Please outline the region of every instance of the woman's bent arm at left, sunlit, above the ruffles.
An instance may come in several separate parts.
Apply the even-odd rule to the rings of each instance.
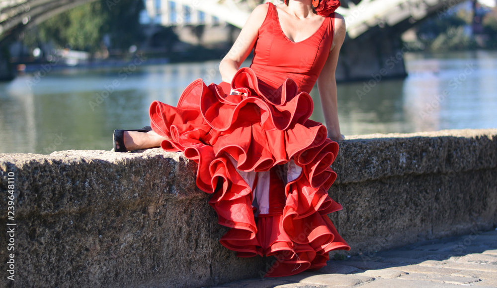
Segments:
[[[235,41],[228,54],[219,63],[219,71],[224,82],[231,83],[240,65],[252,51],[259,35],[259,28],[266,18],[267,8],[267,4],[262,4],[253,9],[240,35],[238,35],[237,41]]]

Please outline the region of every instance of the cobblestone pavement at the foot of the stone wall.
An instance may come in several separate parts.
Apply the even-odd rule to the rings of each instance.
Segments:
[[[331,260],[316,272],[218,288],[497,288],[497,229]]]

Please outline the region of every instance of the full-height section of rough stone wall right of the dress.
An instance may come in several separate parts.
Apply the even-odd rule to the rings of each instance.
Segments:
[[[340,143],[329,192],[343,210],[330,218],[350,254],[371,258],[398,243],[495,227],[496,133],[374,134]]]

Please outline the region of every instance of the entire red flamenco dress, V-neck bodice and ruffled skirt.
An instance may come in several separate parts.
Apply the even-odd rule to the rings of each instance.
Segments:
[[[350,247],[327,216],[341,209],[327,192],[338,144],[308,119],[308,93],[330,53],[334,14],[295,43],[267,5],[252,64],[231,87],[198,79],[177,107],[153,102],[150,117],[154,131],[171,139],[164,150],[198,164],[197,186],[213,194],[219,224],[231,228],[221,244],[239,257],[276,256],[266,276],[277,277],[319,269],[328,252]]]

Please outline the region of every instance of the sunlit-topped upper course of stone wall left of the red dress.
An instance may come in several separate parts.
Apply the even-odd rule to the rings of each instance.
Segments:
[[[109,201],[130,204],[153,197],[207,198],[195,185],[196,164],[180,153],[162,149],[134,153],[68,150],[0,157],[0,173],[16,173],[16,188],[22,191],[17,204],[29,214],[99,209]]]

